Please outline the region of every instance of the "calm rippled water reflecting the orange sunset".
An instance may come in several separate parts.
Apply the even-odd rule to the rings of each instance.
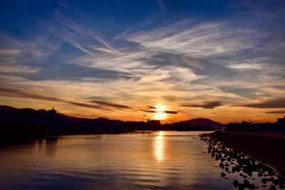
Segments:
[[[68,135],[0,147],[0,189],[234,189],[197,134]]]

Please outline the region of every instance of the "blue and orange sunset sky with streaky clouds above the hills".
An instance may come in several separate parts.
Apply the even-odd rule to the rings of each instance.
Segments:
[[[1,1],[0,105],[275,122],[285,1]]]

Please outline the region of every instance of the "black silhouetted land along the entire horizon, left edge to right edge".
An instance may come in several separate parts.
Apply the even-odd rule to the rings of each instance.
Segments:
[[[207,118],[197,118],[160,124],[159,121],[134,122],[109,120],[104,117],[95,119],[73,117],[58,113],[56,110],[18,109],[0,105],[0,144],[5,139],[21,137],[46,137],[58,134],[103,134],[143,130],[202,131],[227,127],[226,131],[235,132],[279,132],[285,134],[285,117],[271,123],[229,123],[222,125]]]

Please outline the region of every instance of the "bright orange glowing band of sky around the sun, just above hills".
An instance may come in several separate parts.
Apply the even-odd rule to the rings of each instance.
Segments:
[[[76,92],[81,92],[80,90]],[[63,93],[64,94],[64,93]],[[67,97],[67,95],[66,95]],[[75,101],[73,99],[66,99],[66,101]],[[125,102],[117,102],[119,104],[124,104]],[[52,102],[35,100],[26,97],[4,97],[0,95],[0,105],[9,105],[16,108],[32,108],[34,110],[50,110],[54,107],[58,112],[68,116],[74,117],[86,117],[86,118],[97,118],[105,117],[110,120],[123,120],[123,121],[147,121],[147,119],[160,120],[161,123],[172,123],[180,122],[184,120],[195,119],[199,117],[208,118],[223,124],[229,122],[242,122],[242,120],[252,122],[276,122],[276,118],[284,117],[284,113],[281,112],[283,109],[260,109],[252,107],[231,107],[228,105],[223,105],[220,107],[215,107],[212,110],[203,109],[199,107],[180,107],[178,102],[171,101],[157,101],[157,98],[153,103],[147,101],[140,101],[136,104],[135,101],[130,101],[128,105],[135,105],[138,110],[135,109],[115,109],[110,107],[110,110],[97,110],[91,107],[82,107],[78,105],[71,105],[65,102]],[[145,112],[147,110],[147,105],[150,105],[153,112]],[[140,110],[142,109],[142,110]],[[177,110],[177,114],[167,114],[165,111]],[[280,113],[268,114],[267,112],[273,112],[279,110]],[[148,110],[147,110],[148,111]]]

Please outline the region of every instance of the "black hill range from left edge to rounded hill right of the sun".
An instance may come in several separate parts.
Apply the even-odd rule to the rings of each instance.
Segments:
[[[9,134],[89,134],[125,132],[133,130],[213,130],[223,127],[219,122],[198,118],[172,124],[160,122],[124,122],[98,117],[95,119],[73,117],[56,110],[18,109],[0,105],[0,136]]]

